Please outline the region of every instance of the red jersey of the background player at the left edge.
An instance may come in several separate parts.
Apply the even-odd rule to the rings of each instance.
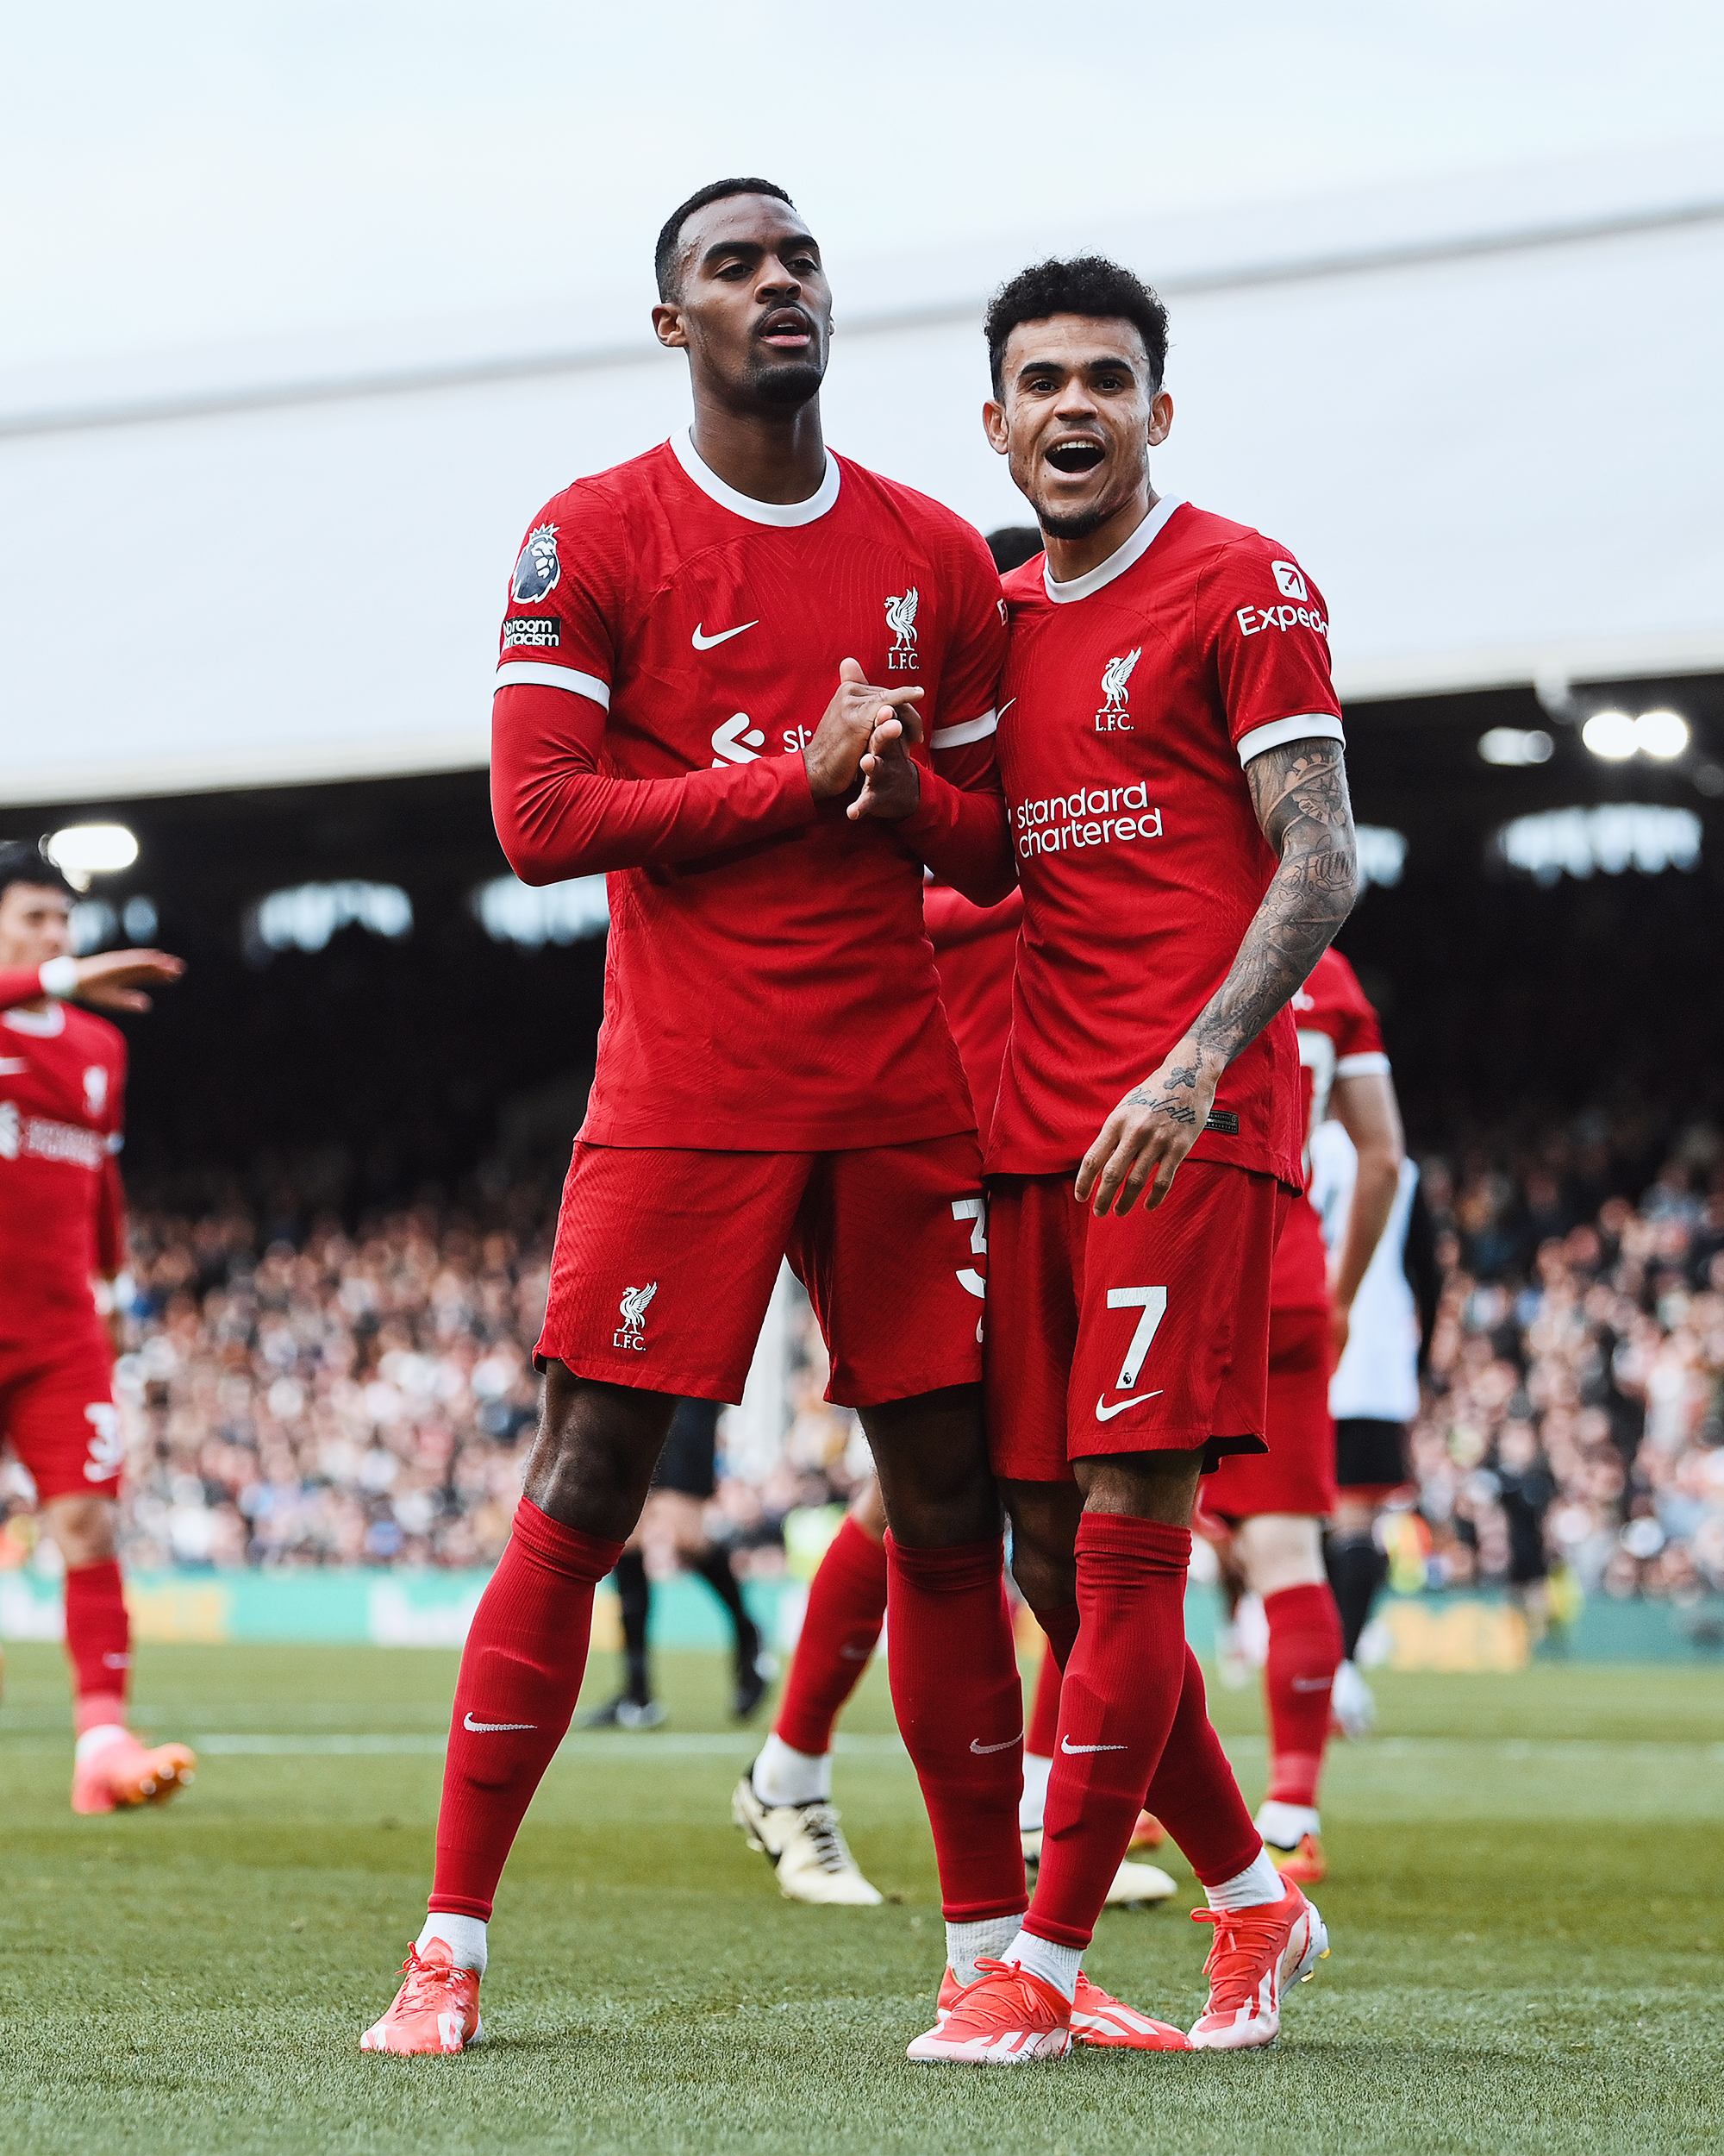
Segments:
[[[34,968],[0,972],[0,1343],[95,1326],[91,1283],[119,1272],[125,1210],[114,1153],[125,1035],[41,996]]]

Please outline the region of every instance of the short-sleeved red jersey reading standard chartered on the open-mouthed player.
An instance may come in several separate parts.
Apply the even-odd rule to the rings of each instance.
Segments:
[[[987,1166],[1075,1166],[1222,985],[1276,856],[1243,765],[1340,740],[1327,610],[1261,533],[1162,500],[1069,584],[1006,578],[1000,776],[1024,886]],[[1299,1179],[1293,1020],[1243,1048],[1198,1160]]]

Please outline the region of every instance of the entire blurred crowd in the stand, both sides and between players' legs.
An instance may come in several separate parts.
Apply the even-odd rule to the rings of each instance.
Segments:
[[[1444,1291],[1416,1503],[1386,1524],[1401,1587],[1724,1591],[1724,1149],[1690,1134],[1638,1203],[1599,1194],[1605,1171],[1567,1138],[1424,1164]],[[125,1559],[496,1559],[534,1432],[552,1229],[528,1190],[267,1238],[237,1203],[138,1212]],[[866,1473],[825,1376],[797,1291],[782,1404],[720,1423],[711,1529],[739,1572],[784,1567],[787,1520],[795,1565],[797,1520]],[[15,1466],[0,1509],[0,1565],[24,1563]]]

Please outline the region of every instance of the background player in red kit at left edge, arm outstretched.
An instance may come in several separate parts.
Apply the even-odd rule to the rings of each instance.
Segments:
[[[147,1011],[177,981],[162,951],[71,955],[71,888],[28,841],[0,847],[0,1440],[37,1485],[67,1567],[73,1811],[162,1802],[183,1744],[127,1729],[131,1626],[114,1516],[123,1442],[97,1281],[125,1268],[125,1035],[67,996]]]

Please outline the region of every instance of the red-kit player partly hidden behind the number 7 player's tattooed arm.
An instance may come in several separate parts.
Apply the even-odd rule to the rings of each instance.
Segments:
[[[1246,1587],[1263,1598],[1269,1658],[1269,1794],[1256,1826],[1282,1878],[1323,1878],[1317,1787],[1330,1740],[1340,1613],[1323,1567],[1323,1522],[1336,1509],[1330,1373],[1347,1311],[1401,1177],[1401,1119],[1377,1013],[1353,968],[1325,951],[1293,996],[1304,1087],[1304,1169],[1310,1134],[1336,1117],[1360,1156],[1360,1181],[1336,1253],[1334,1296],[1317,1210],[1302,1192],[1287,1214],[1269,1276],[1267,1453],[1231,1453],[1202,1485],[1205,1522],[1231,1537]],[[1338,1339],[1336,1339],[1338,1335]],[[1205,1531],[1207,1524],[1205,1524]]]

